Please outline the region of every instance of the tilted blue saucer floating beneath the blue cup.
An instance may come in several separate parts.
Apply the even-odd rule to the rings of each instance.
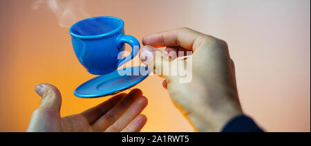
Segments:
[[[142,82],[148,77],[149,73],[150,71],[146,66],[119,69],[84,82],[75,89],[74,94],[79,98],[98,98],[113,95]]]

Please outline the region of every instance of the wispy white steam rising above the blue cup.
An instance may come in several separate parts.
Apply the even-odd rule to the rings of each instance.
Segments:
[[[37,0],[32,3],[32,9],[38,10],[41,5],[46,4],[56,15],[58,25],[69,28],[75,22],[89,17],[84,8],[84,2],[84,0]]]

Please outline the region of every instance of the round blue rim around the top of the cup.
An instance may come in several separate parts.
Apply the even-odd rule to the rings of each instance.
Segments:
[[[77,34],[73,33],[72,29],[73,29],[73,27],[75,27],[77,25],[77,23],[79,23],[81,21],[86,21],[86,20],[89,20],[89,19],[98,19],[98,18],[116,19],[117,21],[120,21],[121,25],[118,26],[117,28],[115,28],[114,30],[109,31],[108,33],[103,33],[103,34],[100,34],[100,35],[77,35]],[[87,19],[82,19],[81,21],[77,21],[75,24],[73,24],[73,26],[70,27],[69,33],[70,33],[71,36],[79,37],[81,39],[95,39],[95,38],[99,38],[99,37],[107,37],[109,35],[113,35],[113,34],[119,32],[124,27],[124,22],[123,22],[122,19],[117,18],[117,17],[111,17],[111,16],[91,17],[91,18],[87,18]]]

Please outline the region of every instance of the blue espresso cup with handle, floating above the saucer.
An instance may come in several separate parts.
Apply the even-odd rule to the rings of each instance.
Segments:
[[[117,17],[93,17],[70,27],[73,49],[88,73],[104,75],[129,62],[138,54],[140,42],[124,35],[124,22]],[[131,55],[122,58],[124,47],[131,45]]]

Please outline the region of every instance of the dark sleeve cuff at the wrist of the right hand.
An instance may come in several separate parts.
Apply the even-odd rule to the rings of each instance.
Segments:
[[[236,116],[227,122],[222,132],[263,132],[252,118],[245,115]]]

